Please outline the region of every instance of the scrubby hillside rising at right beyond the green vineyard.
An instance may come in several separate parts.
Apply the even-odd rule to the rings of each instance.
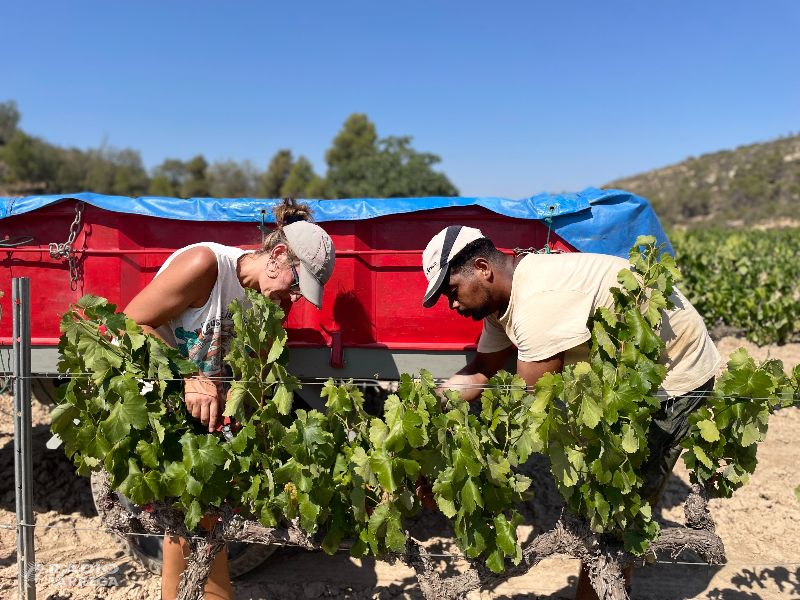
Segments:
[[[650,200],[665,225],[800,219],[800,135],[689,158],[612,181]]]

